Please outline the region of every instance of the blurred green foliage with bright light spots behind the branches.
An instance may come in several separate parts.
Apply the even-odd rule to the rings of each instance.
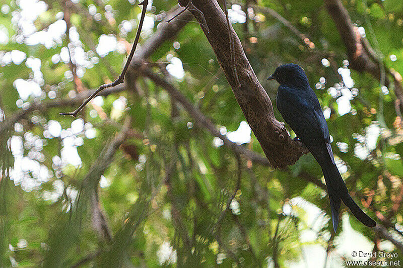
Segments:
[[[67,2],[67,8],[64,3],[0,1],[0,97],[1,115],[4,112],[6,117],[1,124],[29,104],[73,98],[77,85],[81,84],[81,90],[95,88],[120,72],[126,46],[137,30],[141,12],[137,3],[77,0]],[[367,9],[361,0],[343,3],[353,22],[366,30],[370,43],[378,40],[379,47],[372,45],[384,55],[385,65],[403,73],[402,2],[368,1]],[[232,6],[231,18],[241,18],[233,27],[272,101],[278,85],[265,78],[276,66],[294,62],[304,67],[328,115],[333,152],[348,188],[361,205],[370,204],[366,211],[371,217],[383,215],[382,224],[402,241],[403,131],[393,88],[380,94],[378,81],[354,71],[354,86],[344,86],[338,70],[348,69],[345,47],[322,1],[261,0],[258,7],[247,10],[241,4]],[[35,8],[24,10],[24,5]],[[158,24],[165,23],[165,15],[175,6],[174,0],[150,4],[145,23],[150,27],[143,30],[141,44],[157,31]],[[309,36],[315,48],[307,48],[264,7]],[[240,9],[246,13],[246,25],[241,23],[245,13]],[[60,31],[62,27],[55,23],[67,17],[73,30],[62,32],[50,45],[43,41],[46,34],[36,36],[38,44],[29,43],[36,32]],[[367,19],[375,36],[368,31]],[[116,41],[104,57],[94,47],[104,40],[102,36]],[[81,59],[87,61],[77,60],[77,80],[66,48],[70,54],[82,53]],[[25,53],[22,62],[15,51]],[[237,130],[244,116],[197,23],[189,22],[149,61],[174,65],[173,57],[181,60],[184,76],[170,76],[170,81],[223,133]],[[28,63],[33,59],[40,60],[39,69]],[[152,68],[166,74],[165,66]],[[19,78],[37,83],[37,96],[23,100],[16,90]],[[21,91],[30,86],[23,84]],[[163,88],[143,77],[136,81],[136,88],[140,94],[127,90],[89,104],[79,121],[58,115],[75,107],[56,106],[30,111],[10,131],[2,132],[0,266],[316,267],[317,260],[307,256],[321,255],[324,260],[327,250],[326,265],[339,267],[345,258],[351,259],[346,248],[352,244],[358,250],[369,247],[368,252],[375,245],[375,250],[398,253],[396,260],[403,261],[402,252],[352,217],[342,217],[338,233],[331,235],[328,198],[308,182],[323,182],[311,155],[301,157],[288,170],[273,170],[241,157],[240,168],[234,152],[215,146],[214,137],[199,128]],[[342,109],[348,109],[347,113],[340,115]],[[276,109],[275,114],[281,120]],[[105,159],[127,116],[132,119],[130,129],[144,137],[129,136],[114,156]],[[54,136],[53,121],[61,127]],[[72,123],[81,122],[84,127],[75,133]],[[13,148],[10,137],[17,144],[15,159],[22,159],[21,172],[7,171],[14,161],[6,150],[7,144]],[[262,153],[253,134],[251,142],[241,146]],[[69,161],[76,149],[81,163],[75,165]],[[240,188],[226,211],[237,180]],[[94,227],[91,202],[95,197],[111,238]],[[343,213],[348,215],[346,210]]]

